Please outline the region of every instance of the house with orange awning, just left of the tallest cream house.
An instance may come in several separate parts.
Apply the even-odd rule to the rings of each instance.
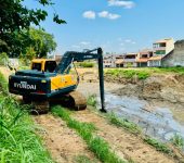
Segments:
[[[152,49],[143,49],[137,53],[137,67],[146,67],[148,59],[153,57],[153,50]]]

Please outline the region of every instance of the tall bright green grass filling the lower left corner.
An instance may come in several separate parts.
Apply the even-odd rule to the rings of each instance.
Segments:
[[[52,163],[27,105],[19,105],[6,93],[2,74],[0,82],[0,163]]]

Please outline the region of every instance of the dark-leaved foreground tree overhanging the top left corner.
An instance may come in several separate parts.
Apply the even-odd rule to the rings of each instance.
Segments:
[[[27,9],[23,5],[23,1],[25,0],[0,0],[0,52],[8,52],[10,57],[21,54],[22,42],[18,37],[24,37],[30,24],[39,25],[48,16],[45,10]],[[53,5],[52,0],[37,1],[43,7]],[[56,13],[53,14],[53,22],[66,23]]]

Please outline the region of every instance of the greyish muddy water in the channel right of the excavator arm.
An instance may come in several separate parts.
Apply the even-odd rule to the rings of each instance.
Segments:
[[[106,93],[105,99],[108,112],[113,111],[118,116],[136,123],[146,135],[162,141],[169,141],[174,134],[184,137],[184,121],[175,118],[170,106],[113,93]]]

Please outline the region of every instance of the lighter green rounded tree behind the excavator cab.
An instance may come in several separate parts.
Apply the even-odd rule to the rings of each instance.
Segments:
[[[53,35],[45,33],[41,28],[31,27],[28,32],[23,30],[17,35],[17,39],[19,40],[19,46],[14,50],[18,51],[21,53],[19,58],[25,60],[43,58],[56,48]]]

